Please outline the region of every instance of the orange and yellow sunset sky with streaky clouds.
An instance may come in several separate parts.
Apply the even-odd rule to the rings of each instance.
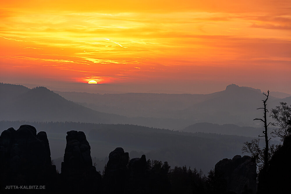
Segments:
[[[291,93],[290,0],[9,0],[0,21],[4,83]]]

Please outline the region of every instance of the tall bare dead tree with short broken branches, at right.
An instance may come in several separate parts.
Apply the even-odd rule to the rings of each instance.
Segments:
[[[264,107],[263,108],[257,108],[257,110],[258,109],[264,109],[264,116],[263,116],[263,119],[254,119],[254,120],[260,120],[260,121],[262,121],[263,123],[264,123],[264,127],[265,127],[265,131],[263,131],[263,136],[260,136],[259,135],[259,137],[265,137],[265,143],[266,143],[266,145],[265,145],[265,153],[264,153],[264,166],[265,167],[267,167],[268,166],[268,160],[269,160],[269,156],[268,156],[268,154],[269,154],[269,140],[271,139],[271,138],[269,138],[268,139],[268,126],[269,126],[269,124],[271,123],[271,122],[269,122],[269,124],[267,124],[267,112],[269,112],[268,111],[268,109],[266,108],[266,106],[267,106],[267,100],[268,100],[268,98],[269,98],[269,90],[268,90],[268,95],[266,95],[265,93],[263,93],[267,98],[265,99],[265,100],[262,100],[263,101],[263,104],[264,104]]]

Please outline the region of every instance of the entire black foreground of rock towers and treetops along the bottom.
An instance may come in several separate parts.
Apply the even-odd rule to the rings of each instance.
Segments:
[[[219,161],[213,177],[206,178],[201,170],[198,173],[196,169],[187,170],[186,166],[176,166],[171,170],[166,161],[147,161],[145,155],[129,161],[128,152],[117,147],[109,154],[102,178],[92,165],[91,147],[84,132],[68,131],[66,141],[61,174],[57,174],[44,131],[37,134],[31,125],[3,131],[0,136],[0,193],[210,194],[220,191],[215,187],[224,182],[229,193],[256,191],[256,164],[249,156],[237,155]],[[290,178],[284,180],[284,177],[290,175],[290,150],[291,141],[286,139],[267,170],[267,176],[272,178],[262,181],[262,185],[287,187]],[[284,177],[278,179],[278,172],[284,172]],[[46,189],[7,191],[5,186],[9,185],[38,185]],[[225,190],[221,191],[225,193]]]

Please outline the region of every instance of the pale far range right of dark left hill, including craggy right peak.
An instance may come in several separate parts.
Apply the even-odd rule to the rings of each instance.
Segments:
[[[226,90],[212,94],[89,94],[85,92],[57,92],[66,99],[96,111],[117,113],[128,117],[175,119],[176,123],[211,122],[232,123],[239,126],[257,126],[253,118],[260,115],[256,108],[264,98],[261,90],[230,84]],[[272,96],[272,91],[270,92]],[[281,99],[270,97],[270,108]],[[283,99],[282,99],[283,100]],[[272,103],[273,102],[273,103]],[[165,121],[156,127],[166,127]],[[168,120],[167,120],[168,122]],[[181,124],[175,124],[182,129]],[[185,125],[184,125],[185,126]],[[186,127],[186,126],[185,126]]]

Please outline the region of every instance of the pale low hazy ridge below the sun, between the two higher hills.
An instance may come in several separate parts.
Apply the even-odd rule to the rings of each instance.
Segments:
[[[86,92],[59,92],[59,95],[94,110],[128,117],[166,118],[169,111],[183,110],[202,102],[211,95],[192,94],[90,94]]]

